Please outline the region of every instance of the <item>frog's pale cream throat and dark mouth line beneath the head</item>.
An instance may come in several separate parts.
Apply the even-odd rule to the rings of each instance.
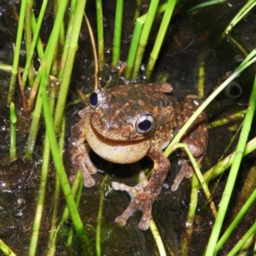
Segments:
[[[102,137],[91,125],[90,120],[85,120],[86,141],[90,148],[103,159],[117,164],[130,164],[141,160],[150,147],[150,140],[144,138],[137,141],[113,141]]]

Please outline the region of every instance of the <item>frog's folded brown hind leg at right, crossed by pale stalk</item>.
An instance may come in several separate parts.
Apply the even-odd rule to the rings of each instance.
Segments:
[[[183,101],[183,108],[181,109],[180,119],[178,120],[179,127],[181,127],[189,117],[200,106],[199,98],[194,95],[186,96]],[[189,127],[189,130],[182,138],[182,143],[186,143],[190,152],[195,157],[197,164],[201,162],[203,155],[207,150],[207,115],[202,112],[195,122]],[[182,166],[175,177],[172,184],[172,191],[177,190],[179,184],[183,180],[183,177],[191,177],[193,174],[193,167],[186,154],[183,154],[180,162]]]

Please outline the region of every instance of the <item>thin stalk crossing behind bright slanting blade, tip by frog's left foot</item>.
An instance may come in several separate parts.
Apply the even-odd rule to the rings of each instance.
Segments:
[[[72,195],[73,195],[73,197],[77,194],[80,183],[83,183],[82,182],[82,174],[81,174],[81,172],[77,172],[76,177],[73,181],[73,186],[72,186]],[[57,229],[55,230],[55,232],[52,236],[52,239],[49,241],[49,251],[47,253],[47,256],[54,256],[55,255],[55,242],[56,242],[57,234],[58,234],[59,230],[61,230],[61,226],[67,221],[68,216],[69,216],[68,208],[65,207],[65,209],[62,213],[62,216],[61,216],[60,223],[59,223]]]

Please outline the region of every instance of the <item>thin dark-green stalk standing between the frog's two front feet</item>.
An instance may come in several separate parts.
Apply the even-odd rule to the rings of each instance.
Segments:
[[[97,225],[96,225],[96,255],[101,256],[101,229],[102,229],[102,213],[103,213],[103,202],[105,199],[104,187],[108,181],[108,175],[102,179],[101,183],[101,195],[100,195],[100,204],[97,215]]]

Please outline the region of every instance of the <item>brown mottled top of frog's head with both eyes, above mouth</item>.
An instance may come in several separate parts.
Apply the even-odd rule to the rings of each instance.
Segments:
[[[90,94],[90,124],[102,137],[113,141],[143,140],[154,134],[154,108],[134,86],[98,89]]]

